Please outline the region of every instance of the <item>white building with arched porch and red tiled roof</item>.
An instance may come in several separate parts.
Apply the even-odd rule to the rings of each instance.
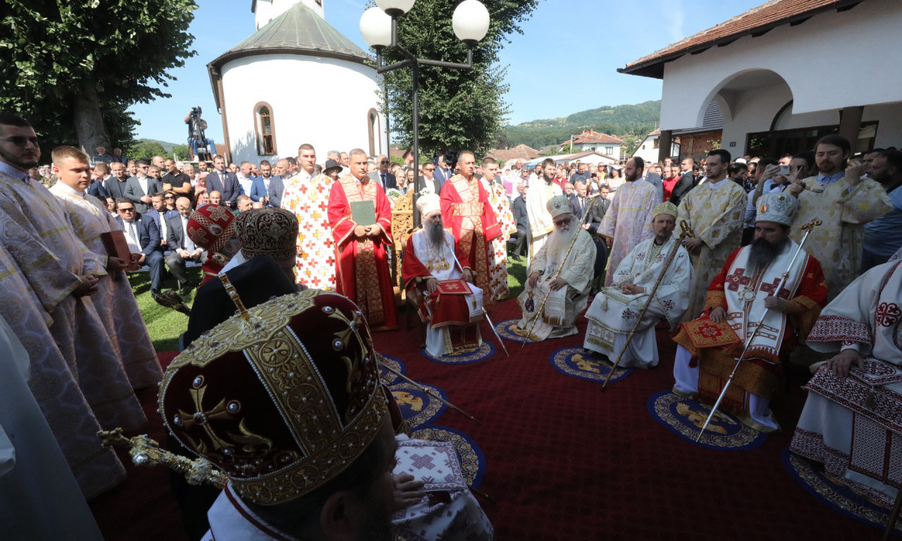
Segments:
[[[896,0],[771,0],[618,71],[663,79],[661,152],[712,101],[733,156],[811,150],[826,133],[856,151],[898,147],[899,28]]]

